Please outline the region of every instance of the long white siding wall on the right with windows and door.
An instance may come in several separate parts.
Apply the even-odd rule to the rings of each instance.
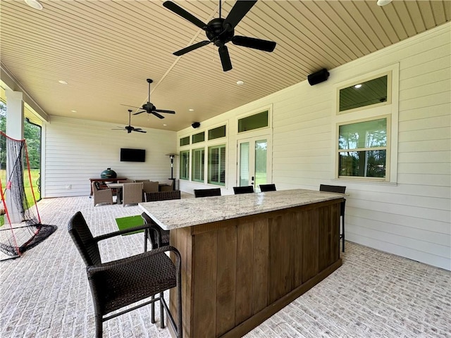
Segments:
[[[450,27],[442,25],[330,70],[327,82],[313,87],[300,82],[202,122],[202,129],[195,132],[228,123],[223,193],[232,193],[236,184],[237,115],[272,106],[272,182],[278,189],[346,185],[348,240],[451,270]],[[397,182],[334,180],[336,87],[395,64],[399,66],[395,95],[399,100],[394,103],[399,111],[393,112],[398,121],[398,133],[393,135],[398,141]],[[178,137],[192,133],[187,128]],[[202,187],[208,186],[180,181],[187,192]]]

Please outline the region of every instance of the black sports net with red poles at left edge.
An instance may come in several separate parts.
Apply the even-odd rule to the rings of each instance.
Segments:
[[[41,224],[25,139],[11,139],[4,132],[0,132],[0,192],[0,251],[20,257],[57,227]]]

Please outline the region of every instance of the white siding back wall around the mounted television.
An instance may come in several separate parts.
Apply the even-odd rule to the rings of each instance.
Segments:
[[[52,118],[44,125],[42,197],[89,196],[89,178],[111,168],[132,180],[168,180],[175,151],[175,132],[143,128],[147,133],[111,130],[117,125]],[[137,127],[137,126],[136,126]],[[146,149],[146,161],[121,162],[120,149]],[[70,185],[70,189],[66,186]]]

